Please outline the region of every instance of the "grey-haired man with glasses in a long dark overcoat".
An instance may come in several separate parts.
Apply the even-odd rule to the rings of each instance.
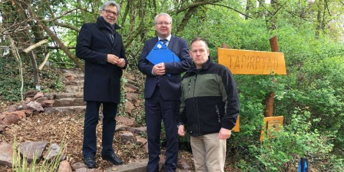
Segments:
[[[103,104],[102,151],[104,160],[113,164],[123,164],[112,148],[116,128],[115,116],[120,103],[122,70],[128,60],[122,42],[120,29],[115,22],[120,6],[115,1],[106,1],[100,10],[96,23],[82,26],[77,46],[77,57],[85,60],[84,100],[86,113],[84,122],[84,163],[95,167],[96,135],[99,107]]]

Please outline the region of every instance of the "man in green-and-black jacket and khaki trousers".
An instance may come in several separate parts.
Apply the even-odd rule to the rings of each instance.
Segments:
[[[202,38],[191,42],[193,65],[181,81],[178,134],[191,136],[196,172],[223,172],[226,139],[239,115],[239,98],[228,68],[213,63]]]

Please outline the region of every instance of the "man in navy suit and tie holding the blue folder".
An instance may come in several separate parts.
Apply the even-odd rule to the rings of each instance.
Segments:
[[[178,136],[176,128],[177,107],[180,98],[180,73],[191,65],[187,42],[171,35],[172,18],[161,13],[155,17],[158,37],[144,43],[138,69],[146,75],[144,86],[145,113],[148,137],[148,172],[158,172],[160,155],[160,132],[163,120],[167,138],[165,171],[174,172],[177,164]],[[167,45],[180,62],[153,65],[146,56],[158,41]],[[171,75],[166,75],[171,74]]]

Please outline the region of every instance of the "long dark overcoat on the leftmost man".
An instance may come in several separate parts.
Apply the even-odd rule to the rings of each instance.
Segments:
[[[84,100],[99,102],[120,102],[122,70],[127,67],[122,36],[114,33],[114,43],[110,41],[106,26],[98,18],[96,23],[82,26],[76,56],[85,60]],[[120,29],[116,24],[115,30]],[[107,54],[114,54],[126,60],[126,66],[120,68],[107,63]]]

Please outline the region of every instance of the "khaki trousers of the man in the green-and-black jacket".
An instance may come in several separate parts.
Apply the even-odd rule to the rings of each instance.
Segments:
[[[192,155],[196,172],[223,172],[226,158],[226,140],[218,133],[191,136]]]

